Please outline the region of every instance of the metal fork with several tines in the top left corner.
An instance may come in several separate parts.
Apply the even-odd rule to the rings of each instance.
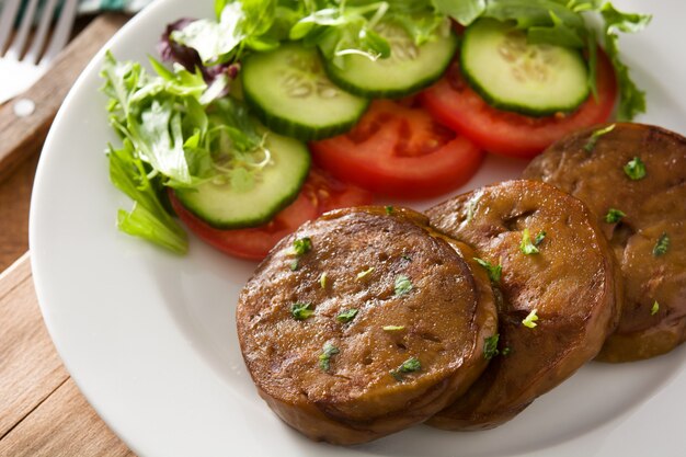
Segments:
[[[19,19],[20,3],[21,0],[4,0],[0,13],[0,104],[28,89],[45,73],[50,61],[67,44],[77,13],[77,0],[65,0],[46,45],[58,1],[45,1],[41,18],[35,18],[38,0],[28,0],[19,30],[11,39],[12,28]],[[37,26],[31,46],[26,49],[34,22],[37,22]]]

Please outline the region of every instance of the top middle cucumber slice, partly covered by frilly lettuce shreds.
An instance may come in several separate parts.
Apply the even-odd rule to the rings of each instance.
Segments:
[[[389,42],[390,57],[370,60],[348,54],[327,62],[329,78],[361,96],[393,99],[430,87],[448,68],[458,44],[449,26],[421,46],[398,25],[384,23],[376,31]]]

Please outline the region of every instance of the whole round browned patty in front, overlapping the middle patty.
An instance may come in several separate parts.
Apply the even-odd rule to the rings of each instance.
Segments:
[[[488,363],[492,290],[425,216],[390,213],[336,210],[304,225],[240,295],[238,335],[258,390],[312,439],[364,443],[423,422]],[[311,249],[297,254],[306,239]]]

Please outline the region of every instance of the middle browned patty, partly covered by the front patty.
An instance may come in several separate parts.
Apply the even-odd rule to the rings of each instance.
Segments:
[[[541,182],[482,187],[427,215],[432,226],[473,247],[493,267],[501,297],[500,355],[465,396],[428,423],[490,429],[596,356],[619,313],[617,269],[588,209]],[[523,252],[525,230],[527,252],[535,248],[538,253]]]

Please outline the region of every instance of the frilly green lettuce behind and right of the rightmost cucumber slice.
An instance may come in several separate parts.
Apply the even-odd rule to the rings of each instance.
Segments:
[[[549,44],[584,50],[588,56],[588,85],[594,95],[596,69],[596,36],[585,16],[595,13],[602,20],[601,44],[609,57],[619,84],[619,121],[632,119],[645,112],[645,93],[631,80],[627,66],[619,57],[618,32],[643,30],[652,19],[649,14],[624,13],[610,2],[597,0],[434,0],[436,8],[461,25],[479,18],[514,21],[526,32],[531,44]]]

